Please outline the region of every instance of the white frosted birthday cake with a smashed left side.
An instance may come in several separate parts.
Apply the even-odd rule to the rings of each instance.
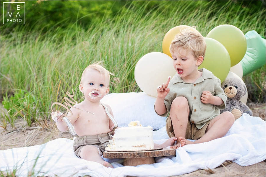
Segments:
[[[129,127],[121,127],[115,130],[110,145],[106,150],[150,150],[153,145],[153,127],[143,127],[140,121],[133,121]]]

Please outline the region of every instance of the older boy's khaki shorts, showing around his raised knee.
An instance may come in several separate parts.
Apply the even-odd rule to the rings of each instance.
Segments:
[[[200,139],[205,134],[205,131],[206,131],[210,121],[211,120],[209,120],[201,129],[198,129],[194,123],[187,121],[186,137],[185,138],[189,139],[189,140]],[[173,130],[173,124],[172,124],[172,120],[170,118],[170,115],[168,116],[165,127],[166,127],[166,132],[167,132],[168,136],[170,138],[174,137],[175,132]]]

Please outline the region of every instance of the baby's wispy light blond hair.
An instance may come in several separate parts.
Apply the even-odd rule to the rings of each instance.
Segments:
[[[84,80],[84,77],[85,77],[87,71],[89,71],[90,69],[95,69],[95,70],[99,71],[103,76],[107,76],[108,77],[108,87],[109,87],[110,75],[114,75],[114,74],[109,72],[107,69],[103,68],[103,61],[99,61],[99,62],[90,64],[84,69],[84,71],[81,75],[81,79],[80,79],[81,84],[82,84],[82,81]]]

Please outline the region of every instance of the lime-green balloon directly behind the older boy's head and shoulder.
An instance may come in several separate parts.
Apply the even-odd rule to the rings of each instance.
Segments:
[[[204,37],[204,39],[207,48],[204,60],[198,69],[206,68],[223,82],[231,68],[230,55],[226,48],[217,40],[208,37]]]

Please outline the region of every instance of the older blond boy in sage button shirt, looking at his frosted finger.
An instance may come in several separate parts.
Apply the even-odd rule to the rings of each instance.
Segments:
[[[198,67],[204,60],[206,43],[195,31],[184,30],[171,42],[170,52],[176,74],[157,88],[155,112],[166,116],[166,131],[176,137],[179,148],[187,144],[208,142],[223,137],[234,123],[226,106],[227,96],[220,80],[205,68]],[[189,141],[187,139],[195,140]]]

